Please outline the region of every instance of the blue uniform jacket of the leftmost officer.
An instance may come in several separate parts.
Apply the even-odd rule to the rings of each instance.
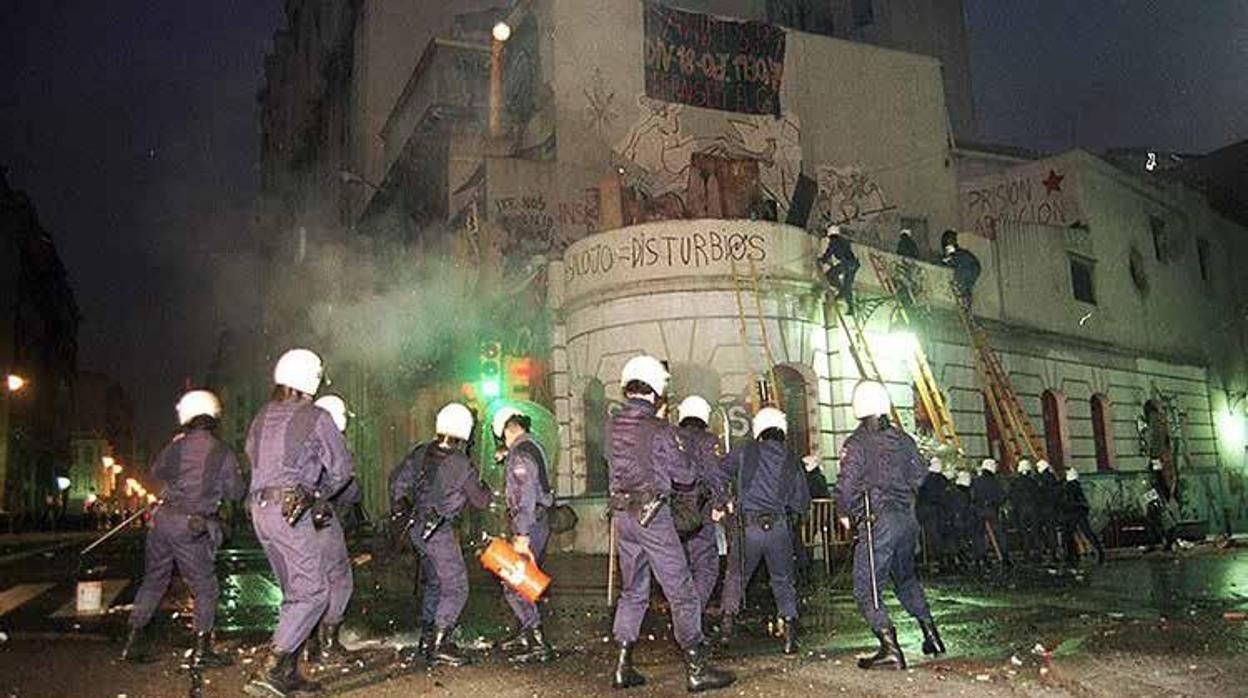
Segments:
[[[165,488],[165,506],[187,513],[212,514],[245,494],[238,461],[208,430],[175,436],[152,460],[151,474]]]

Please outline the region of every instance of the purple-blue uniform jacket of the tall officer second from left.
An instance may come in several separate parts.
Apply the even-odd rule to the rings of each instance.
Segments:
[[[303,400],[272,401],[247,430],[251,491],[266,487],[337,492],[354,466],[328,412]]]

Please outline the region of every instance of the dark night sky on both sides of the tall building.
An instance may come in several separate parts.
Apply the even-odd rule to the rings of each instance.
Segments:
[[[426,1],[426,0],[419,0]],[[0,165],[84,313],[80,366],[172,426],[246,283],[273,0],[31,0],[0,24]],[[1243,0],[966,0],[980,137],[1206,151],[1248,137]]]

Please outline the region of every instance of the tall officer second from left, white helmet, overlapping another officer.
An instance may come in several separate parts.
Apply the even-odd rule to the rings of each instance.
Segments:
[[[273,368],[273,393],[247,430],[251,522],[282,589],[272,646],[243,687],[250,696],[316,692],[298,672],[298,651],[329,604],[321,531],[308,516],[316,492],[337,492],[354,476],[333,417],[312,403],[323,366],[314,352],[286,352]]]

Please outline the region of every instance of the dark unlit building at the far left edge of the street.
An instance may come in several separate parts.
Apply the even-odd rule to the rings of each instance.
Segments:
[[[0,511],[35,523],[67,474],[79,311],[35,207],[0,172]]]

